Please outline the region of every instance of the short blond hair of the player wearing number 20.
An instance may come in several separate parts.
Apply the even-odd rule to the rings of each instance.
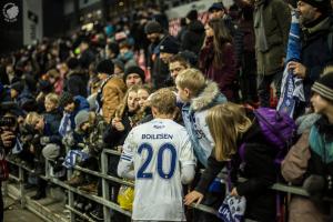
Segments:
[[[176,108],[175,93],[170,89],[162,88],[149,98],[150,105],[157,108],[161,114],[173,114]]]

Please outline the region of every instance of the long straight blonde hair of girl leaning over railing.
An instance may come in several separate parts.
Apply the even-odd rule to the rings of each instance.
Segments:
[[[236,152],[239,137],[252,125],[244,107],[232,102],[211,108],[205,120],[215,143],[218,161],[226,161]]]

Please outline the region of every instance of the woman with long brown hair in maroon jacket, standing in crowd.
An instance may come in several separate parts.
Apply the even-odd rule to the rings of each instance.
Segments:
[[[222,19],[205,26],[205,39],[200,51],[199,67],[206,78],[218,82],[221,92],[233,101],[236,64],[232,38]]]

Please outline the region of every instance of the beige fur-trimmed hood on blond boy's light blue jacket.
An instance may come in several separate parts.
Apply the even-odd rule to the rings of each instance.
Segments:
[[[194,99],[192,99],[190,109],[194,112],[213,107],[215,103],[225,102],[226,98],[220,92],[216,82],[206,80],[205,88]]]

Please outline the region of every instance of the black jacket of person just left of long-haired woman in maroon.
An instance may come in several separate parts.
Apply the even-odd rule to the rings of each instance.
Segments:
[[[204,40],[204,27],[201,21],[191,21],[181,39],[182,51],[189,50],[198,54]]]

